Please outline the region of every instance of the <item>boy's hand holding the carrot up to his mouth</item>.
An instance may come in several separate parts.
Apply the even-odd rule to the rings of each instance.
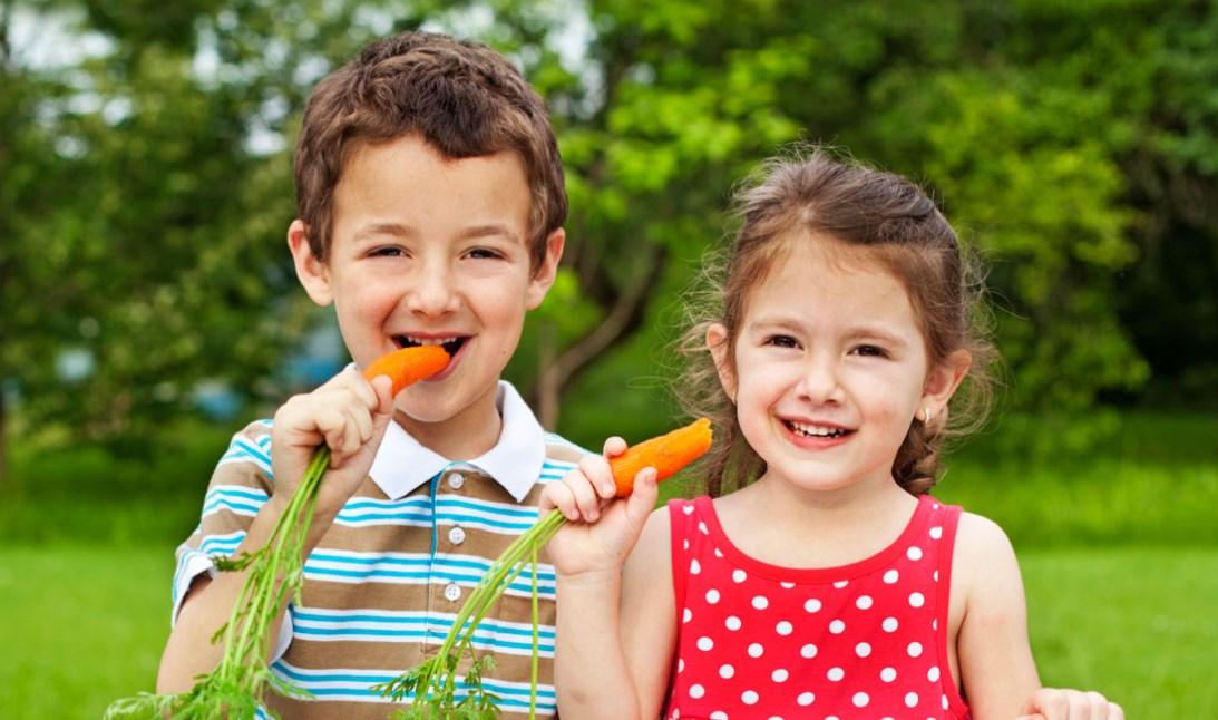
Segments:
[[[393,417],[391,383],[369,383],[351,367],[313,392],[296,395],[275,412],[270,430],[272,501],[286,502],[322,445],[330,447],[330,470],[318,490],[317,514],[333,517],[368,475],[385,428]]]

